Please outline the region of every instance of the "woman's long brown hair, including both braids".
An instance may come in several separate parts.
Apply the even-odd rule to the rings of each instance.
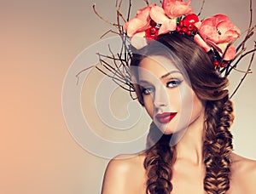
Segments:
[[[212,65],[209,55],[191,37],[165,34],[157,42],[132,54],[131,67],[139,66],[143,58],[161,55],[173,61],[190,81],[195,94],[205,102],[203,157],[206,166],[204,189],[209,194],[224,194],[230,189],[230,152],[233,149],[230,125],[233,107],[228,96],[228,79],[221,77]],[[132,70],[133,79],[138,78]],[[134,82],[137,98],[143,105],[140,87]],[[156,136],[160,138],[155,138]],[[172,165],[176,159],[176,146],[170,146],[172,134],[160,134],[151,124],[144,168],[148,174],[147,193],[167,194],[172,191]]]

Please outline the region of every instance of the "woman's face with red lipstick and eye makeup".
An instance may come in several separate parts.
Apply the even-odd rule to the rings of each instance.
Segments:
[[[163,56],[143,59],[138,70],[138,84],[148,115],[164,134],[185,131],[201,125],[204,106],[183,73]]]

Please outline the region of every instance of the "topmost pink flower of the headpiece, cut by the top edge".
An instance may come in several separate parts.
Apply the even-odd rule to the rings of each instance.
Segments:
[[[189,7],[191,0],[163,0],[162,7],[169,18],[177,18],[183,14],[192,14],[193,8]]]

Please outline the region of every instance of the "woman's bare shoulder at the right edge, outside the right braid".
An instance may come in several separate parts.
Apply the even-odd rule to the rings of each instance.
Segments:
[[[232,179],[243,193],[256,193],[256,161],[235,153],[231,157]]]

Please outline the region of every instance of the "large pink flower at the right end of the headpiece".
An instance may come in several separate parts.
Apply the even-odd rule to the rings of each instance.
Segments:
[[[195,23],[200,37],[195,37],[195,42],[207,51],[207,45],[216,48],[223,55],[228,44],[233,43],[240,36],[240,30],[232,24],[230,18],[224,14],[215,14],[202,22]],[[203,43],[203,41],[205,43]],[[224,60],[232,60],[236,56],[236,48],[230,45],[224,54]]]

